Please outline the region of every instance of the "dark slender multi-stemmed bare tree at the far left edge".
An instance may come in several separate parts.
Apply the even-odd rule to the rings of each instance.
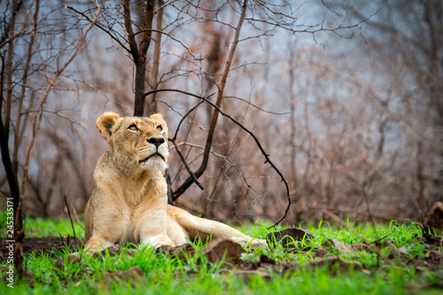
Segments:
[[[26,31],[30,28],[29,32],[29,43],[28,43],[28,47],[27,47],[27,53],[25,56],[26,59],[26,63],[25,63],[25,67],[23,68],[23,78],[21,81],[21,91],[19,92],[19,107],[18,107],[18,113],[17,113],[17,118],[15,118],[15,121],[17,122],[16,124],[16,129],[14,130],[15,132],[15,137],[14,137],[14,151],[13,153],[13,160],[16,160],[17,162],[12,162],[11,161],[11,157],[10,157],[10,151],[9,151],[9,130],[10,130],[10,126],[12,123],[12,96],[13,96],[13,85],[17,82],[12,82],[12,76],[14,74],[20,74],[19,70],[17,70],[16,68],[14,68],[13,64],[14,64],[14,55],[17,53],[14,49],[14,43],[17,42],[15,39],[15,25],[16,25],[16,16],[19,13],[25,13],[24,11],[22,11],[23,9],[23,2],[17,2],[17,1],[13,1],[12,3],[12,15],[11,18],[9,19],[9,24],[7,26],[4,27],[8,27],[10,29],[9,32],[4,32],[4,39],[5,39],[5,43],[9,43],[9,50],[8,50],[8,54],[7,54],[7,59],[4,60],[2,58],[2,73],[6,72],[6,77],[4,79],[4,74],[2,74],[2,112],[1,113],[5,113],[5,118],[3,120],[3,118],[0,116],[0,119],[2,121],[2,123],[0,124],[0,134],[1,134],[1,149],[2,149],[2,159],[4,161],[4,168],[5,171],[7,171],[8,174],[8,182],[9,182],[9,186],[10,186],[10,192],[11,192],[11,197],[13,198],[13,204],[14,204],[14,261],[15,261],[15,266],[16,266],[16,272],[19,274],[19,276],[23,276],[24,275],[24,269],[23,269],[23,249],[22,249],[22,243],[23,243],[23,238],[25,237],[25,229],[23,228],[23,202],[24,202],[24,197],[25,197],[25,191],[26,191],[26,186],[27,186],[27,176],[28,176],[28,169],[29,169],[29,164],[30,164],[30,160],[31,160],[31,153],[33,151],[34,145],[35,145],[35,139],[36,136],[38,135],[40,129],[42,128],[42,121],[43,121],[43,114],[45,112],[45,107],[47,105],[47,100],[48,97],[50,96],[50,92],[51,90],[54,88],[56,82],[58,82],[58,79],[60,77],[61,74],[63,74],[63,72],[65,71],[66,67],[74,60],[74,58],[77,56],[79,50],[82,49],[82,44],[85,42],[86,39],[86,35],[89,33],[89,30],[91,29],[92,25],[97,21],[97,14],[96,17],[93,19],[91,25],[86,29],[84,35],[82,35],[82,38],[77,41],[74,42],[72,44],[69,44],[64,50],[60,50],[58,52],[57,58],[66,58],[66,61],[64,61],[63,63],[57,63],[56,67],[55,67],[55,71],[52,73],[49,70],[49,64],[46,63],[46,61],[43,59],[43,56],[41,54],[42,50],[41,46],[43,46],[43,43],[35,43],[35,37],[38,34],[36,27],[37,27],[37,23],[39,21],[39,17],[40,17],[40,13],[39,13],[39,9],[40,9],[40,1],[36,0],[35,1],[35,5],[34,5],[34,17],[33,17],[33,21],[31,24],[29,23],[25,23],[27,26],[29,26]],[[101,7],[98,8],[98,12],[100,11]],[[7,13],[4,12],[4,15],[6,15]],[[9,36],[9,38],[8,38]],[[12,38],[14,37],[14,38]],[[22,106],[23,106],[23,100],[25,98],[25,94],[27,92],[27,78],[29,75],[29,63],[30,60],[33,58],[33,54],[35,52],[34,49],[34,44],[37,47],[37,52],[39,52],[39,58],[41,58],[42,62],[42,67],[43,67],[43,75],[46,78],[47,81],[47,85],[43,86],[43,96],[41,97],[40,101],[37,103],[38,108],[35,111],[35,115],[33,116],[33,124],[32,124],[32,133],[29,139],[29,143],[27,144],[27,147],[24,148],[25,155],[24,155],[24,161],[23,161],[23,171],[21,174],[21,184],[19,184],[19,175],[18,175],[18,150],[19,150],[19,136],[20,134],[23,132],[24,128],[26,128],[25,126],[22,126],[20,129],[20,121],[21,121],[21,116],[22,116]],[[48,44],[47,44],[48,45]],[[3,52],[2,52],[2,57],[3,57]],[[17,83],[18,84],[18,83]],[[3,107],[3,89],[4,89],[4,85],[6,85],[6,105],[4,105]]]

